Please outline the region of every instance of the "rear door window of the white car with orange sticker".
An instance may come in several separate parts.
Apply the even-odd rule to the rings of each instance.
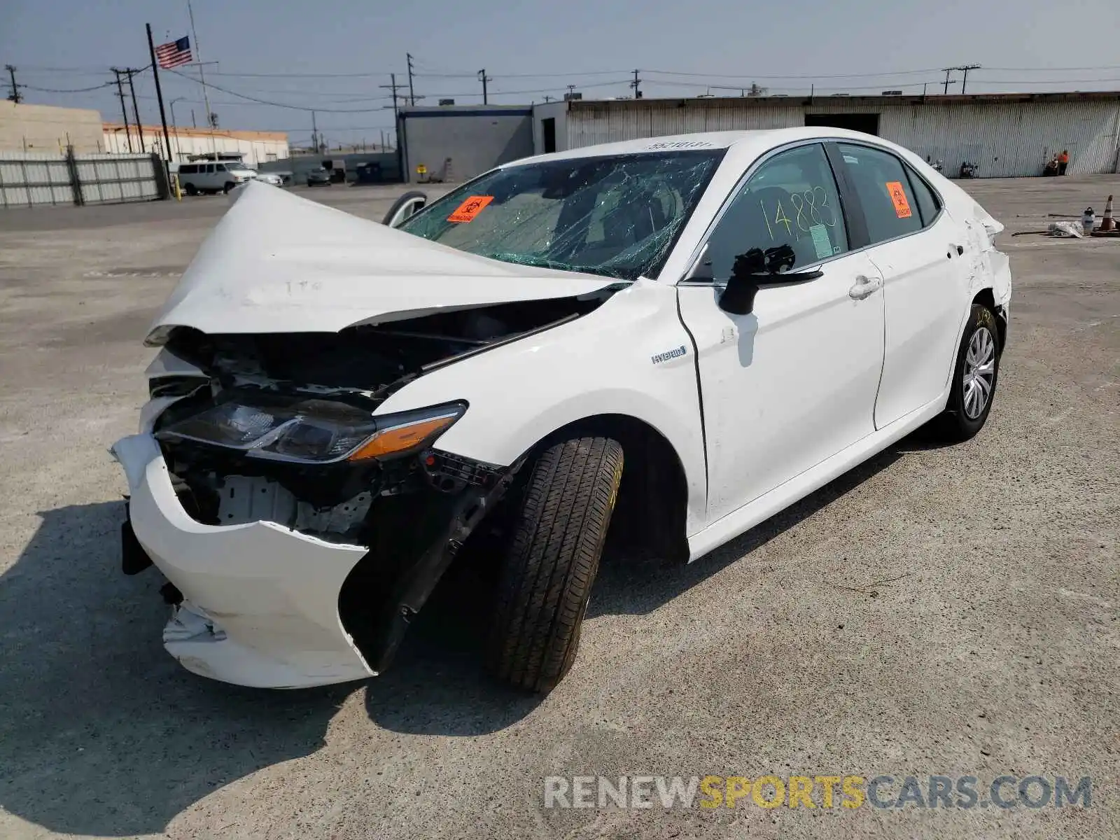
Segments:
[[[839,143],[852,188],[864,205],[871,244],[922,230],[917,197],[903,162],[867,146]]]

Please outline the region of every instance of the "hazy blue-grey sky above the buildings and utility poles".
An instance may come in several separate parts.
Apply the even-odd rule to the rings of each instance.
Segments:
[[[319,0],[283,8],[194,0],[195,46],[218,63],[207,65],[207,81],[225,88],[209,96],[220,124],[283,130],[298,143],[310,136],[311,108],[328,142],[376,141],[392,127],[381,85],[390,73],[405,82],[405,53],[426,97],[417,104],[480,102],[483,67],[491,101],[510,104],[560,96],[569,84],[585,99],[625,96],[635,67],[647,97],[737,95],[752,82],[788,94],[811,84],[818,93],[921,93],[924,82],[933,92],[942,90],[940,68],[962,64],[982,65],[969,74],[970,93],[1120,90],[1118,10],[1116,0]],[[109,82],[110,66],[147,66],[144,22],[157,44],[187,35],[185,0],[0,0],[0,64],[18,68],[26,102],[95,108],[119,120],[115,87],[52,91]],[[177,122],[189,125],[194,110],[203,124],[197,82],[161,78],[165,100],[178,100]],[[150,73],[137,77],[137,94],[143,121],[157,122]]]

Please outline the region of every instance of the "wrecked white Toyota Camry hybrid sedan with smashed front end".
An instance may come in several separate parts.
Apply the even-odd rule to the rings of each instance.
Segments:
[[[123,563],[168,579],[190,671],[377,674],[457,557],[496,558],[488,668],[548,691],[608,532],[690,562],[991,410],[1002,225],[879,138],[634,140],[420,204],[249,184],[151,325]]]

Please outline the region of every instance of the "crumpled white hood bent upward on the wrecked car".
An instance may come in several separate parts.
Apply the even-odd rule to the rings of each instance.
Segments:
[[[337,333],[357,324],[586,295],[612,278],[457,251],[249,183],[152,323],[203,333]]]

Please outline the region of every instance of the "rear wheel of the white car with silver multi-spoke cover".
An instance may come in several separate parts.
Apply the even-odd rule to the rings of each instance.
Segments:
[[[949,402],[937,418],[939,430],[946,439],[968,440],[983,428],[996,396],[1000,352],[996,315],[973,304],[956,353]]]

